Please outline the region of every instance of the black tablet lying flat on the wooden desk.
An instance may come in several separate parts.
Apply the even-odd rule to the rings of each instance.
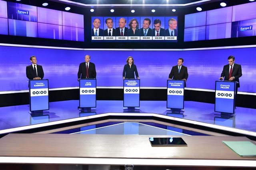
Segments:
[[[151,146],[188,146],[182,138],[149,138]]]

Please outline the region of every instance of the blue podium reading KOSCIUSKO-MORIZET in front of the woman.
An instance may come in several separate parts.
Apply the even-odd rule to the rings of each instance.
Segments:
[[[124,107],[140,107],[140,79],[124,79]]]

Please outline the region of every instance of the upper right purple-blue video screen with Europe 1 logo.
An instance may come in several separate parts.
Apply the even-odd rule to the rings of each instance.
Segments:
[[[256,35],[256,2],[185,15],[184,42]]]

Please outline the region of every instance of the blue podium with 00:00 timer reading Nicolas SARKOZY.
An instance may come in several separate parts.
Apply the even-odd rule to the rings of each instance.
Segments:
[[[43,113],[49,110],[48,79],[29,80],[29,106],[31,113]]]

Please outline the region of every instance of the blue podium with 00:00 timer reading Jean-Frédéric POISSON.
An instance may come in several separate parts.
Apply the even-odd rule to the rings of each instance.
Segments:
[[[184,80],[167,80],[167,108],[172,111],[184,109]]]

